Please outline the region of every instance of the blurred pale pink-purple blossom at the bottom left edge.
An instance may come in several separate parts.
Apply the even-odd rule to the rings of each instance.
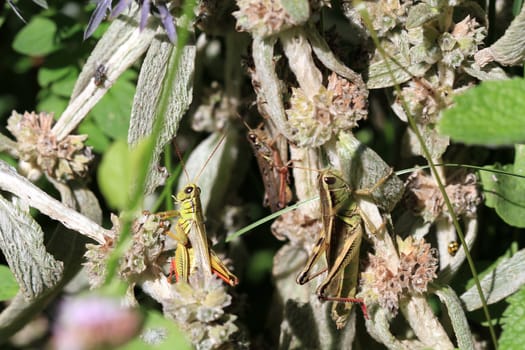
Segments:
[[[53,349],[112,349],[135,337],[140,313],[103,297],[66,299],[53,330]]]

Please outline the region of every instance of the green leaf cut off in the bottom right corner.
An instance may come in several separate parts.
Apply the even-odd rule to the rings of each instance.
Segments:
[[[499,338],[499,349],[521,349],[525,343],[525,288],[507,299],[509,307],[501,320],[503,332]]]

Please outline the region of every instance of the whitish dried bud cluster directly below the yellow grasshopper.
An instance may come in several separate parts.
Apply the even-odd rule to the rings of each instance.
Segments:
[[[231,304],[224,284],[212,278],[201,288],[198,278],[192,274],[189,284],[179,281],[172,285],[173,297],[163,303],[164,313],[175,320],[196,349],[219,349],[234,343],[241,348],[241,342],[233,342],[239,330],[237,317],[224,311]]]

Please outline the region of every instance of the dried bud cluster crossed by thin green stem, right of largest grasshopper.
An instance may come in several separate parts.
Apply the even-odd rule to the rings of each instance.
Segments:
[[[431,176],[422,171],[410,175],[405,183],[405,203],[425,222],[433,222],[438,218],[450,218],[441,191]],[[476,185],[476,176],[468,174],[461,182],[451,183],[445,187],[445,192],[452,202],[457,216],[474,217],[481,197]]]

